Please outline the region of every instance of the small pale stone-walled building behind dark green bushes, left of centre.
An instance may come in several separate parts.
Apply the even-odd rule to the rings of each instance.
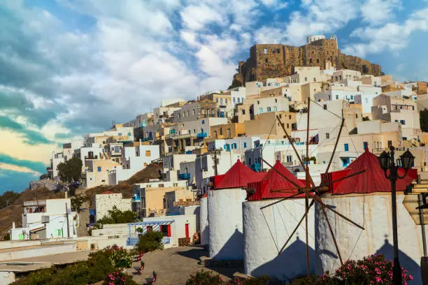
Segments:
[[[95,195],[95,220],[98,221],[106,215],[109,210],[113,210],[116,207],[117,210],[122,212],[131,211],[131,198],[122,198],[122,193],[113,193],[111,191],[105,191],[101,194]]]

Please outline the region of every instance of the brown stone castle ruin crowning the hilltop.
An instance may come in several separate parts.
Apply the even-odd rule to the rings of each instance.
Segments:
[[[295,66],[320,66],[321,69],[351,69],[362,74],[380,75],[378,64],[341,53],[336,36],[308,36],[308,43],[300,47],[281,44],[259,44],[250,48],[250,58],[239,61],[238,73],[232,85],[292,75]]]

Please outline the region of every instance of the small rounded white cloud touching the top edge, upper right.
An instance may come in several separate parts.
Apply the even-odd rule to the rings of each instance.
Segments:
[[[366,0],[361,6],[362,18],[369,24],[381,24],[391,20],[400,7],[401,0]]]

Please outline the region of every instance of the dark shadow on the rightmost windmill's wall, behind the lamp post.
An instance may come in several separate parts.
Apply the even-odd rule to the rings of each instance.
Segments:
[[[376,254],[383,254],[388,260],[394,261],[394,246],[390,244],[389,240],[385,239],[385,244],[383,244],[383,246],[380,247],[378,251],[376,251]],[[413,280],[409,281],[408,283],[415,285],[422,284],[422,277],[420,276],[420,265],[415,263],[415,261],[413,261],[413,259],[403,251],[399,251],[399,259],[401,267],[408,270],[408,273],[413,276]]]

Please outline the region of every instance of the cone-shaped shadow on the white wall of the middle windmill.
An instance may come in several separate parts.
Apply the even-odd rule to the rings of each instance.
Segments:
[[[312,247],[309,247],[309,261],[311,263],[311,274],[321,275],[322,272],[316,271],[316,268],[320,268],[321,260]],[[297,237],[296,241],[290,244],[282,254],[252,270],[251,275],[269,275],[281,281],[291,282],[297,277],[306,277],[306,270],[306,243]]]

